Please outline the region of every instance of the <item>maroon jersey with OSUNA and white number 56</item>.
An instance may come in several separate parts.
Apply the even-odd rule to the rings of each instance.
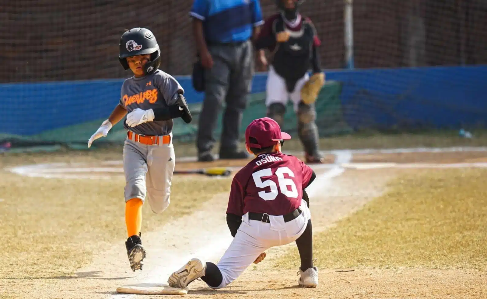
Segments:
[[[312,175],[313,170],[294,156],[261,154],[234,176],[226,212],[288,214],[300,207]]]

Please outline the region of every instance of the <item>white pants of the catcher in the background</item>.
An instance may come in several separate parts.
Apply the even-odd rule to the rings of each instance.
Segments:
[[[290,98],[294,104],[294,110],[298,111],[298,104],[301,101],[301,88],[309,81],[309,74],[306,73],[301,79],[296,82],[296,86],[292,92],[288,92],[286,88],[286,81],[276,73],[272,66],[269,67],[267,73],[267,83],[265,87],[265,106],[270,106],[273,103],[281,103],[286,106]]]

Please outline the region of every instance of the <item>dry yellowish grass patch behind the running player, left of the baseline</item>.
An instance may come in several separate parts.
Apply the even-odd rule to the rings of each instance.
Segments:
[[[227,192],[230,182],[174,177],[166,211],[154,214],[144,204],[143,233],[195,211],[217,193]],[[123,177],[45,179],[0,171],[0,279],[70,275],[89,263],[99,246],[123,244],[124,185]]]

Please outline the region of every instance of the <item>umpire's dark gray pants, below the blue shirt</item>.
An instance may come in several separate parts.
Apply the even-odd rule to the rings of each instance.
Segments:
[[[225,101],[221,149],[236,151],[242,114],[254,73],[253,46],[242,44],[210,45],[213,67],[205,71],[205,99],[199,118],[197,147],[199,154],[212,150],[218,113]]]

